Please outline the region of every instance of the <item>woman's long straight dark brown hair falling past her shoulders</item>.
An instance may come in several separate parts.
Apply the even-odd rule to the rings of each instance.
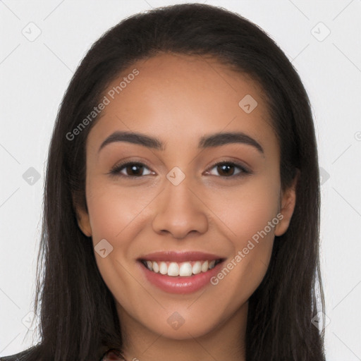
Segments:
[[[156,8],[121,21],[93,44],[66,90],[47,159],[35,300],[35,313],[41,306],[41,343],[34,357],[99,360],[101,350],[122,347],[114,297],[99,274],[90,238],[78,227],[74,207],[87,210],[85,142],[97,118],[73,140],[66,135],[99,104],[111,80],[159,51],[216,56],[250,75],[267,94],[281,147],[281,186],[291,184],[296,169],[300,178],[288,231],[276,236],[267,274],[249,300],[246,358],[324,360],[324,335],[311,322],[324,308],[324,295],[319,168],[307,93],[286,55],[257,25],[204,4]]]

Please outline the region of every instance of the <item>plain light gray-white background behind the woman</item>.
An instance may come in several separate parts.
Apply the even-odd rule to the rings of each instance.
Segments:
[[[27,326],[44,166],[56,111],[75,68],[91,44],[126,16],[183,2],[0,1],[0,355],[37,341]],[[205,2],[236,11],[266,30],[305,84],[323,175],[327,360],[361,360],[361,1]],[[32,39],[37,31],[41,34]],[[25,181],[30,167],[39,180],[27,176]]]

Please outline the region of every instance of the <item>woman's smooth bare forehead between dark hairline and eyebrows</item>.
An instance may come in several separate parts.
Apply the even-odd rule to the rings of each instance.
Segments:
[[[214,58],[159,54],[137,61],[104,96],[109,104],[88,135],[93,145],[115,130],[157,135],[177,147],[221,131],[242,131],[266,148],[276,143],[262,88]]]

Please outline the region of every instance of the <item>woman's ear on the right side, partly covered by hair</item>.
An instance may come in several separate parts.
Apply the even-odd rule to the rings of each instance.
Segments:
[[[288,226],[290,225],[290,219],[292,218],[293,211],[295,210],[296,204],[296,187],[298,183],[298,178],[300,176],[300,169],[297,169],[295,178],[293,178],[293,183],[290,185],[286,191],[281,192],[281,205],[279,213],[283,215],[283,218],[276,225],[274,234],[283,235],[286,233]]]

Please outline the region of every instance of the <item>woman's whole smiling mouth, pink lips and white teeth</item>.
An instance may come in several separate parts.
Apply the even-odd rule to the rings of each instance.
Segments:
[[[204,252],[155,252],[137,259],[151,285],[166,293],[192,293],[210,285],[225,257]]]

